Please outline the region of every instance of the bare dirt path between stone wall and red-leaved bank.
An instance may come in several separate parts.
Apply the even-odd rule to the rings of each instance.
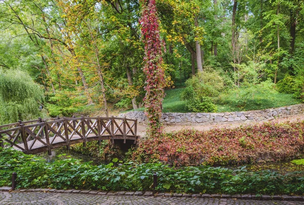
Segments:
[[[286,122],[286,121],[298,121],[298,120],[304,120],[304,114],[297,114],[297,115],[291,115],[288,116],[286,118],[278,118],[278,119],[274,119],[271,121],[275,121],[275,122]],[[249,123],[229,123],[226,122],[225,124],[214,124],[214,125],[191,125],[191,126],[165,126],[165,132],[175,132],[175,131],[180,131],[183,129],[195,129],[195,130],[199,130],[199,131],[205,131],[205,130],[211,130],[211,129],[221,129],[221,128],[237,128],[240,127],[242,125],[254,125],[254,124],[261,124],[263,122],[267,122],[269,120],[264,120],[264,121],[260,121],[260,122],[249,122]],[[140,137],[144,137],[146,134],[146,129],[148,128],[148,126],[146,125],[138,125],[137,126],[137,135],[139,135]]]

